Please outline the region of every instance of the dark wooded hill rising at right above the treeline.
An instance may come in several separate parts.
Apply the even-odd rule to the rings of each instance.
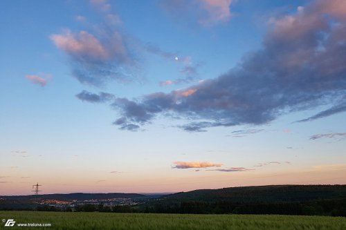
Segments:
[[[269,185],[243,186],[224,189],[199,189],[164,195],[163,200],[174,202],[234,202],[282,203],[307,202],[346,198],[346,185]]]

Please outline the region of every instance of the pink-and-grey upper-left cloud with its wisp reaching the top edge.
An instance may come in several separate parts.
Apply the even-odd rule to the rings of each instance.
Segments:
[[[89,22],[85,30],[51,35],[51,41],[69,58],[73,77],[82,84],[102,86],[106,82],[131,82],[138,77],[140,62],[133,55],[136,46],[131,37],[126,36],[120,25],[119,15],[111,13],[107,0],[91,0],[98,9],[100,22]],[[85,21],[84,17],[78,17]]]

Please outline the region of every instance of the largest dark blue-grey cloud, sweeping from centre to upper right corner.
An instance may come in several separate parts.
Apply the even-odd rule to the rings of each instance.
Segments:
[[[228,73],[185,90],[121,99],[113,108],[138,126],[159,113],[174,113],[194,119],[181,128],[200,132],[266,124],[291,111],[336,105],[346,93],[345,15],[345,1],[313,1],[273,21],[262,48]]]

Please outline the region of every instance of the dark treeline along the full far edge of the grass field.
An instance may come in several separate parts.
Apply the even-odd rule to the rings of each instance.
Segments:
[[[0,210],[34,210],[35,207],[1,207]],[[346,217],[346,199],[318,200],[314,202],[289,202],[276,204],[188,201],[153,205],[80,204],[75,207],[40,205],[37,211],[105,212],[105,213],[190,213],[190,214],[276,214],[276,215],[331,215]]]

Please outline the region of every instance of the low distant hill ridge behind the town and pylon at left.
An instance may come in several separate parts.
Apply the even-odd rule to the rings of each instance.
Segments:
[[[145,195],[137,193],[69,193],[69,194],[43,194],[39,198],[46,200],[105,200],[112,198],[145,198]],[[35,195],[3,195],[0,198],[8,200],[30,200]]]

